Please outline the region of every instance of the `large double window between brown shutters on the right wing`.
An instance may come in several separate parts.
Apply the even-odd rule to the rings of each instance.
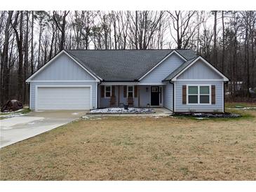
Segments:
[[[188,104],[210,104],[210,85],[189,85]]]

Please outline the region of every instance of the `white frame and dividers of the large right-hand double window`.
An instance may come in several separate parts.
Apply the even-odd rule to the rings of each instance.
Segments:
[[[189,94],[189,86],[197,87],[197,94]],[[209,95],[209,103],[200,103],[200,87],[201,86],[208,86],[209,87],[209,94],[203,94],[203,95]],[[197,103],[189,103],[189,95],[197,95]],[[186,90],[186,102],[187,105],[211,105],[212,104],[212,90],[210,84],[187,84],[187,90]]]

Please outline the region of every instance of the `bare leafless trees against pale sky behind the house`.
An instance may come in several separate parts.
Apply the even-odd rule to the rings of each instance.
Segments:
[[[248,90],[255,22],[255,11],[0,11],[0,102],[27,104],[25,80],[62,49],[191,48]]]

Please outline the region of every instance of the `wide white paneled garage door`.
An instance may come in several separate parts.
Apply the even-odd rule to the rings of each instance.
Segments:
[[[39,87],[36,109],[90,109],[89,87]]]

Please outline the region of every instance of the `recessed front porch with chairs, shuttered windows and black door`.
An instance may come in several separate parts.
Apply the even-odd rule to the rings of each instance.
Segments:
[[[165,85],[99,85],[98,108],[163,107]]]

